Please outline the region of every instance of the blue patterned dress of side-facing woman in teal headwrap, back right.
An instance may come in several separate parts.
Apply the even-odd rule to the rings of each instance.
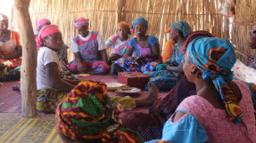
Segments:
[[[184,52],[181,52],[178,55],[178,44],[174,45],[173,54],[169,61],[173,66],[177,67],[184,64]],[[159,65],[158,68],[162,65]],[[150,77],[150,83],[155,84],[161,91],[171,90],[180,79],[173,75],[169,70],[145,72],[145,75],[148,75]],[[148,90],[148,84],[145,86],[145,90]]]

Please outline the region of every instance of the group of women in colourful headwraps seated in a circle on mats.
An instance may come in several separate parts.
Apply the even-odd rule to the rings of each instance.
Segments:
[[[87,30],[88,20],[75,20],[79,34],[71,42],[75,60],[66,65],[71,72],[107,73],[116,60],[116,70],[159,72],[172,82],[178,79],[176,85],[168,80],[163,85],[161,79],[157,82],[151,77],[145,98],[119,98],[108,96],[104,83],[65,78],[60,60],[62,32],[51,24],[37,27],[37,110],[56,114],[56,129],[63,142],[256,142],[256,85],[232,80],[230,69],[236,56],[227,40],[206,31],[192,32],[186,21],[174,22],[169,34],[178,44],[173,46],[169,63],[161,64],[159,42],[145,35],[145,19],[135,20],[131,31],[136,37],[120,34],[120,41],[112,36],[107,44],[97,32]],[[121,26],[120,33],[129,34],[127,24]],[[255,38],[252,30],[252,48]],[[115,47],[122,41],[128,46],[108,59],[106,46]],[[157,83],[173,88],[158,99],[161,86]],[[143,106],[152,106],[149,114],[130,112],[120,121],[123,110]]]

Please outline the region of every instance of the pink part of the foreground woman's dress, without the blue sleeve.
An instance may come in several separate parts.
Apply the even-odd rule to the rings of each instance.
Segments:
[[[194,115],[203,128],[207,132],[209,142],[214,143],[234,143],[234,142],[256,142],[256,127],[255,115],[252,105],[252,93],[246,83],[234,81],[243,97],[239,102],[244,116],[242,123],[235,124],[228,120],[227,112],[225,109],[218,109],[211,105],[211,103],[198,95],[190,96],[182,101],[178,109],[188,111],[181,121],[187,115]],[[172,123],[173,115],[170,117],[169,122]],[[176,123],[178,123],[176,122]],[[175,124],[175,123],[172,123]]]

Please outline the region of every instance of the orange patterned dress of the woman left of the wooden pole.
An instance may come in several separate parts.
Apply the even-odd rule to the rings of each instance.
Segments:
[[[11,39],[6,43],[0,42],[0,56],[16,52],[16,47],[21,46],[20,35],[16,31],[11,31]],[[0,60],[7,68],[17,68],[21,66],[21,57],[12,60]]]

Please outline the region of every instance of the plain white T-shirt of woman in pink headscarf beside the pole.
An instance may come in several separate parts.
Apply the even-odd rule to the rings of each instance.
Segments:
[[[51,62],[55,62],[62,72],[57,53],[47,47],[41,47],[37,52],[37,90],[53,89],[48,83],[45,71],[45,66]]]

